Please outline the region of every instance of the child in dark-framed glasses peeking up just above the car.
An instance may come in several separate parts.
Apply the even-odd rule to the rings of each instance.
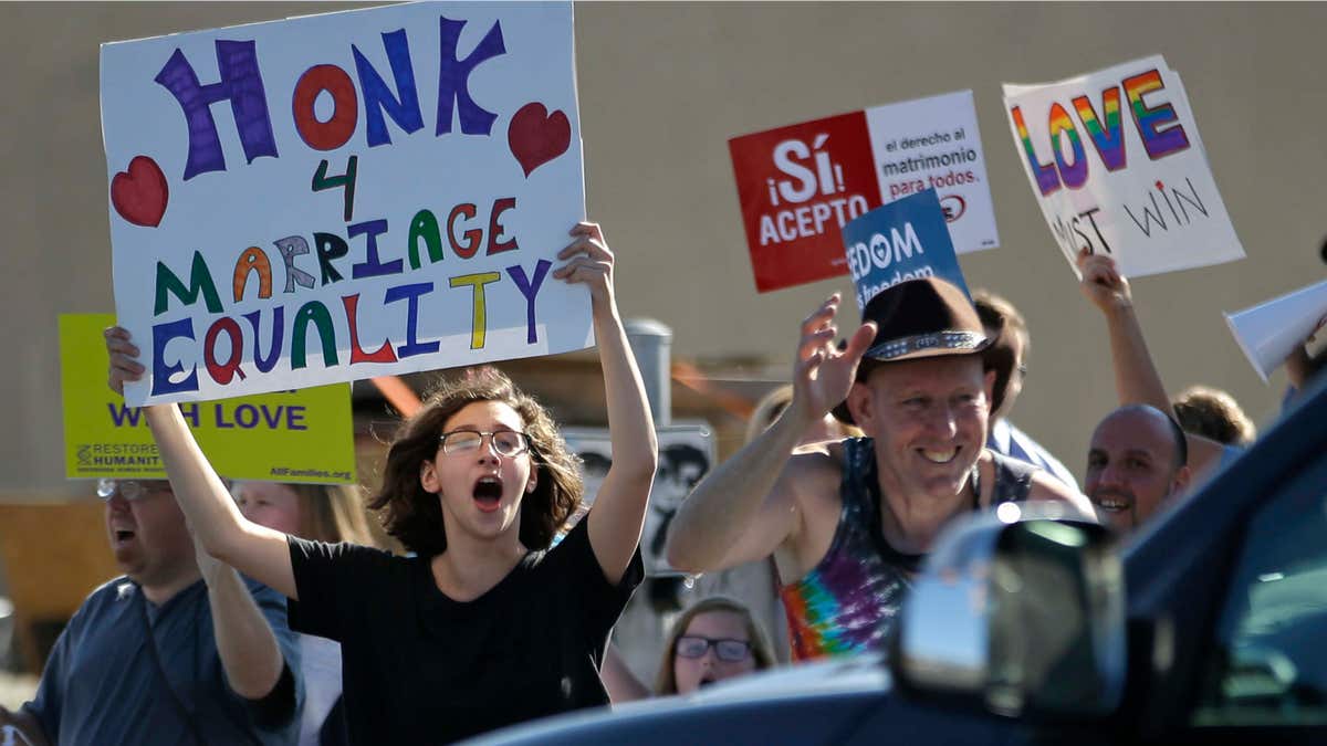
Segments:
[[[751,609],[723,596],[697,601],[673,623],[654,690],[690,694],[697,689],[764,670],[774,654]]]

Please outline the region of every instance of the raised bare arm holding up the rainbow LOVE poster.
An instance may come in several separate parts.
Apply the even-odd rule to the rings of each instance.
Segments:
[[[1133,311],[1129,281],[1116,269],[1115,260],[1103,254],[1080,251],[1078,263],[1083,273],[1083,295],[1105,316],[1111,360],[1115,365],[1115,390],[1120,404],[1148,404],[1174,418],[1170,397],[1165,393],[1161,374],[1148,352],[1143,325]],[[1221,443],[1192,433],[1185,433],[1185,438],[1193,473],[1206,471],[1221,463]]]

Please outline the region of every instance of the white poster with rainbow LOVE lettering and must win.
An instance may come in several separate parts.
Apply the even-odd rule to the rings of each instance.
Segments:
[[[1070,265],[1125,275],[1243,258],[1180,76],[1160,56],[1046,85],[1005,85],[1010,131]]]

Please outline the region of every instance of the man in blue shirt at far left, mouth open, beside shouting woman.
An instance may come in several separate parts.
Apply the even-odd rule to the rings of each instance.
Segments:
[[[88,596],[32,702],[0,706],[19,745],[293,743],[303,685],[285,599],[198,548],[170,482],[102,479],[123,576]],[[4,743],[5,741],[0,741]]]

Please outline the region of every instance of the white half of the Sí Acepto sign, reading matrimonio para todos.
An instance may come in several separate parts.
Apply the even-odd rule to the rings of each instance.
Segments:
[[[884,204],[934,188],[957,254],[999,246],[973,92],[867,109]]]

